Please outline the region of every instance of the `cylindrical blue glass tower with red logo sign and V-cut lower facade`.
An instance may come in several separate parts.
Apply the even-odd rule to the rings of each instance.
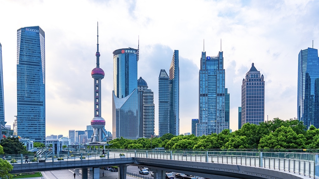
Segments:
[[[138,137],[137,59],[137,49],[122,48],[113,52],[113,139]]]

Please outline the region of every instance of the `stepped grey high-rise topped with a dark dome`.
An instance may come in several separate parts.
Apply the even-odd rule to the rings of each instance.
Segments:
[[[137,80],[137,101],[138,101],[138,137],[151,138],[154,135],[154,94],[148,89],[147,83],[140,77]]]

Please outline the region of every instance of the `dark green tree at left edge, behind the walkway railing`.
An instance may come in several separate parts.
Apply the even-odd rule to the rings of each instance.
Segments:
[[[27,153],[24,149],[24,145],[19,141],[17,137],[8,137],[3,138],[0,142],[0,145],[3,147],[4,154],[22,154]]]

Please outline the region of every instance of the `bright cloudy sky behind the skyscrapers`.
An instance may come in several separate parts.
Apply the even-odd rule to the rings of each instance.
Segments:
[[[137,48],[137,77],[154,92],[158,134],[158,77],[169,71],[174,50],[180,63],[180,134],[198,118],[201,52],[224,52],[225,86],[230,93],[230,129],[238,129],[242,79],[251,63],[265,80],[265,120],[297,117],[300,50],[319,48],[319,1],[43,1],[1,0],[0,43],[5,121],[17,114],[17,30],[45,32],[46,135],[86,130],[93,116],[93,79],[99,22],[102,80],[101,116],[112,131],[113,54]],[[220,43],[221,40],[221,43]],[[203,45],[205,41],[205,45]]]

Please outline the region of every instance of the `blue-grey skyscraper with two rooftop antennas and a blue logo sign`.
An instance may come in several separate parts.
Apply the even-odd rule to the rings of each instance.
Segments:
[[[223,52],[217,56],[206,56],[206,52],[202,52],[200,62],[197,136],[229,129],[229,94],[225,89]]]

